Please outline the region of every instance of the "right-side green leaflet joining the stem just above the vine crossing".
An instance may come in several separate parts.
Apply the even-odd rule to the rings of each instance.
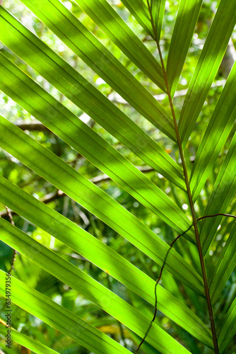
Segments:
[[[191,171],[190,187],[193,199],[196,200],[206,179],[213,169],[218,154],[236,120],[236,63],[234,64],[225,87],[221,93],[216,109],[206,129],[196,153]]]

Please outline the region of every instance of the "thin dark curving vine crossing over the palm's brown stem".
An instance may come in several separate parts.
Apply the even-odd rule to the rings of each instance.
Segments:
[[[235,215],[230,215],[230,214],[222,214],[222,213],[218,213],[218,214],[215,214],[215,215],[206,215],[204,217],[199,217],[198,219],[196,219],[196,222],[199,222],[199,220],[201,219],[206,219],[207,217],[218,217],[218,216],[225,216],[225,217],[234,217],[236,219],[236,216]],[[186,232],[188,232],[191,227],[193,227],[194,224],[191,224],[189,226],[189,228],[187,230],[185,230],[184,232],[182,232],[182,234],[179,234],[175,239],[174,241],[172,241],[172,243],[170,244],[170,248],[168,249],[166,255],[165,255],[165,258],[164,258],[164,261],[163,261],[163,266],[162,268],[160,269],[160,275],[158,277],[158,280],[155,282],[155,288],[154,288],[154,293],[155,293],[155,305],[154,305],[154,314],[153,314],[153,319],[151,320],[151,323],[149,324],[148,326],[148,329],[145,333],[145,335],[143,336],[143,339],[141,341],[141,343],[138,345],[138,348],[136,349],[136,352],[135,354],[138,353],[138,350],[140,349],[141,345],[143,344],[143,342],[145,341],[146,337],[148,336],[148,333],[149,331],[151,330],[151,326],[153,325],[153,322],[155,321],[155,316],[158,312],[158,295],[157,295],[157,287],[158,287],[158,284],[160,283],[160,279],[161,279],[161,276],[163,275],[163,270],[164,270],[164,267],[165,267],[165,263],[166,263],[166,260],[167,260],[167,256],[168,254],[170,253],[170,250],[172,249],[172,246],[174,246],[175,242],[177,241],[177,239],[179,239],[180,236],[183,236],[184,234],[186,234]]]

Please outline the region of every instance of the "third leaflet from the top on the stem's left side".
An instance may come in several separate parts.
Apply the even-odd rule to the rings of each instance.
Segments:
[[[22,2],[143,117],[176,139],[172,120],[163,106],[63,4],[58,0],[42,0],[40,5],[36,0]]]

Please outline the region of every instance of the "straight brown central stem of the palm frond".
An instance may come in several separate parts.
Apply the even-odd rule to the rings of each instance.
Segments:
[[[171,111],[172,111],[172,118],[173,118],[174,125],[175,125],[175,132],[176,132],[176,136],[177,136],[177,144],[178,144],[178,147],[179,147],[179,154],[181,156],[182,166],[183,166],[183,170],[184,170],[184,180],[185,180],[185,184],[186,184],[186,188],[187,188],[187,194],[188,194],[188,198],[189,198],[189,205],[190,205],[190,208],[191,208],[191,215],[192,215],[192,218],[193,218],[194,232],[195,232],[195,236],[196,236],[196,246],[197,246],[198,251],[199,251],[199,259],[200,259],[201,271],[202,271],[202,275],[203,275],[203,283],[204,283],[204,289],[205,289],[205,295],[206,295],[206,303],[207,303],[208,314],[209,314],[209,318],[210,318],[210,322],[211,322],[211,333],[212,333],[212,336],[213,336],[213,346],[214,346],[215,353],[219,354],[218,341],[217,341],[217,336],[216,336],[216,326],[215,326],[215,321],[214,321],[214,317],[213,317],[211,296],[210,296],[210,292],[209,292],[209,288],[208,288],[208,280],[207,280],[207,276],[206,276],[206,267],[205,267],[203,253],[202,253],[202,249],[201,249],[201,241],[200,241],[200,237],[199,237],[199,230],[198,230],[197,224],[196,224],[196,214],[195,214],[195,210],[194,210],[194,202],[193,202],[192,197],[191,197],[191,190],[190,190],[190,186],[189,186],[189,177],[188,177],[188,173],[187,173],[187,167],[186,167],[186,164],[185,164],[184,152],[183,152],[183,149],[182,149],[181,139],[179,137],[179,130],[178,130],[177,120],[176,120],[176,116],[175,116],[175,109],[174,109],[174,106],[173,106],[172,97],[171,97],[171,93],[170,93],[170,87],[169,87],[168,80],[167,80],[167,74],[166,74],[166,71],[165,71],[165,64],[164,64],[164,61],[163,61],[163,55],[162,55],[162,52],[160,50],[160,44],[159,44],[159,40],[158,40],[158,35],[157,35],[156,28],[155,28],[155,23],[153,21],[152,9],[151,9],[149,0],[147,0],[147,2],[148,2],[148,10],[149,10],[149,13],[150,13],[150,16],[151,16],[151,23],[152,23],[152,27],[153,27],[153,33],[155,35],[155,41],[156,41],[157,46],[158,46],[158,53],[159,53],[159,56],[160,56],[160,62],[161,62],[161,66],[163,68],[163,76],[164,76],[164,79],[165,79],[165,85],[166,85],[166,89],[167,89],[167,96],[169,98],[170,108],[171,108]]]

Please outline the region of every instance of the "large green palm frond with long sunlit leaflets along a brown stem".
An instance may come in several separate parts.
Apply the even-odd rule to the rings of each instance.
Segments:
[[[93,183],[95,180],[90,181],[88,176],[83,176],[44,144],[2,116],[0,146],[57,187],[61,194],[68,195],[109,229],[123,236],[136,252],[141,251],[144,259],[151,259],[158,265],[159,273],[148,273],[145,266],[137,268],[128,257],[126,259],[119,254],[119,250],[117,253],[102,239],[85,231],[4,176],[0,176],[0,201],[9,208],[8,215],[17,213],[88,259],[107,273],[108,278],[110,275],[125,285],[131,291],[134,302],[119,297],[111,286],[105,287],[63,256],[15,227],[13,220],[8,222],[4,218],[0,219],[1,240],[130,329],[133,333],[132,343],[138,347],[136,353],[138,350],[143,350],[143,353],[200,353],[199,350],[203,352],[203,348],[224,353],[235,334],[236,323],[234,296],[232,293],[230,297],[223,294],[235,266],[236,64],[225,81],[214,109],[208,112],[208,119],[200,126],[197,120],[199,122],[202,119],[208,93],[214,91],[211,86],[218,75],[235,27],[236,2],[218,1],[186,96],[183,102],[180,101],[181,107],[175,105],[174,96],[184,63],[191,55],[189,46],[203,1],[179,1],[168,50],[162,42],[163,21],[167,16],[165,0],[122,1],[126,13],[129,11],[143,33],[146,33],[150,50],[110,2],[76,0],[78,6],[114,42],[114,47],[119,48],[121,55],[129,58],[126,64],[122,63],[123,57],[118,60],[112,50],[109,47],[107,49],[59,0],[22,0],[64,45],[93,69],[102,82],[107,83],[110,92],[115,91],[119,95],[116,97],[129,104],[130,117],[119,103],[112,102],[109,90],[108,96],[100,92],[4,6],[0,8],[0,40],[8,50],[4,47],[0,53],[0,89],[105,173],[107,178],[111,178],[127,195],[150,210],[157,224],[160,219],[163,229],[170,230],[171,246],[166,238],[164,241],[158,236],[152,225],[148,227],[135,212],[130,212],[121,205],[121,201],[105,192],[102,185],[98,187]],[[102,130],[95,132],[54,98],[47,87],[37,84],[33,72],[30,74],[20,59],[13,57],[9,50],[97,122]],[[133,68],[136,67],[136,76],[134,70],[132,73],[126,68],[130,63]],[[146,89],[143,78],[153,85],[151,89]],[[155,85],[165,93],[169,106],[155,99],[151,93]],[[131,119],[132,115],[134,118]],[[153,126],[155,133],[160,132],[158,136],[163,144],[154,139],[154,135],[148,135],[142,126],[138,126],[138,122],[143,120],[136,120],[137,115],[151,123],[152,132]],[[126,147],[125,151],[130,151],[130,161],[126,159],[128,155],[123,148],[119,151],[112,147],[115,139],[107,139],[105,131]],[[202,138],[199,139],[199,136]],[[193,138],[199,147],[194,161],[190,161]],[[172,147],[170,152],[167,144]],[[165,179],[172,198],[166,190],[159,188],[155,179],[148,178],[144,168],[132,164],[136,159],[140,164],[150,166],[148,171],[156,171]],[[185,211],[182,209],[182,200]],[[224,235],[224,247],[216,239],[219,227]],[[176,238],[177,235],[181,236]],[[176,250],[173,240],[177,241]],[[212,245],[218,256],[214,264],[211,264],[210,259]],[[155,281],[160,270],[162,273],[163,265],[169,277],[164,286],[159,284],[160,277]],[[0,277],[0,294],[6,297],[4,270],[0,270]],[[18,307],[37,316],[90,352],[129,353],[126,346],[30,287],[27,282],[13,276],[9,278],[11,302]],[[170,292],[169,281],[174,284],[175,295]],[[184,304],[186,298],[187,304]],[[149,304],[154,306],[155,314],[157,310],[163,312],[172,320],[173,326],[177,324],[184,329],[182,333],[189,333],[191,340],[186,344],[181,335],[174,338],[171,331],[168,333],[158,325],[158,321],[154,321],[155,316],[151,321]],[[1,323],[4,324],[4,321]],[[122,329],[121,324],[119,326]],[[5,326],[0,326],[0,333],[5,335],[5,332]],[[121,343],[124,344],[124,333],[122,337]],[[13,329],[11,338],[35,353],[57,353],[40,341]],[[202,343],[201,346],[198,347],[196,342]],[[142,343],[142,346],[138,346],[138,343]]]

